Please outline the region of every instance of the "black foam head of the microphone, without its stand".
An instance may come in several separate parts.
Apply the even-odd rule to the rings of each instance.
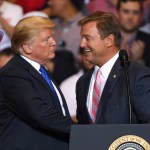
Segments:
[[[121,61],[121,66],[124,68],[127,68],[127,67],[129,67],[129,65],[130,65],[130,62],[129,62],[129,60],[128,60],[128,54],[127,54],[127,51],[126,50],[124,50],[124,49],[122,49],[122,50],[120,50],[120,52],[119,52],[119,59],[120,59],[120,61]]]

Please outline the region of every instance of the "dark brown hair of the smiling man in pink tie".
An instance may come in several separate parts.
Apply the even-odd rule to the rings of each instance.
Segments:
[[[121,34],[118,20],[113,13],[96,11],[78,22],[79,26],[96,21],[97,29],[102,39],[110,34],[115,37],[115,46],[120,48]]]

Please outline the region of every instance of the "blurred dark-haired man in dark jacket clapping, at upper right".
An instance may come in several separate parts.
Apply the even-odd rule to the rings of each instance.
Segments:
[[[150,35],[139,30],[142,8],[140,0],[118,0],[121,48],[128,51],[130,59],[150,67]]]

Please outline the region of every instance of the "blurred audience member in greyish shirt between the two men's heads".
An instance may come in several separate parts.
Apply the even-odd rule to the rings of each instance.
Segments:
[[[80,0],[49,0],[51,13],[56,16],[55,39],[57,43],[66,43],[66,49],[70,50],[74,56],[78,55],[80,45],[80,32],[77,22],[83,18],[82,8],[84,1]],[[59,45],[58,45],[59,46]],[[57,47],[59,49],[59,47]]]

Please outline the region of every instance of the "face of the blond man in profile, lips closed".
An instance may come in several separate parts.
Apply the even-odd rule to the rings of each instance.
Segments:
[[[44,29],[37,33],[30,44],[23,45],[23,55],[29,59],[44,64],[55,57],[56,42],[51,29]]]

